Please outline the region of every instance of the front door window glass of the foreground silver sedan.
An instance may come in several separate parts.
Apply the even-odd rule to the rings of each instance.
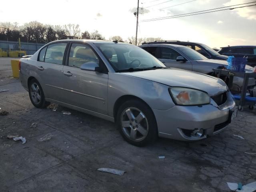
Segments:
[[[99,65],[99,58],[93,50],[85,44],[73,43],[70,49],[68,65],[80,68],[82,64],[95,62]]]

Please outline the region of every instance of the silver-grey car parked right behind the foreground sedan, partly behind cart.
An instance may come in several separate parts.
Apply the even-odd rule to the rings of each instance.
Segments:
[[[226,61],[208,59],[195,50],[182,45],[144,44],[139,47],[158,58],[167,67],[180,68],[212,75],[213,68],[218,68],[218,66],[228,66],[228,62]],[[252,72],[253,68],[246,66],[245,70],[246,72]],[[243,78],[234,77],[232,90],[239,92],[242,88],[242,84]],[[250,78],[248,82],[248,89],[253,89],[255,84],[255,79]]]

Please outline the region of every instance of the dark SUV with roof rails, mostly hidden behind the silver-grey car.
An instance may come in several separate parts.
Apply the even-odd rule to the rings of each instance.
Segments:
[[[186,42],[186,41],[177,41],[177,40],[161,40],[161,41],[154,41],[148,42],[143,44],[176,44],[176,45],[183,45],[190,47],[196,50],[198,53],[202,54],[203,56],[207,57],[208,59],[218,59],[218,60],[227,60],[228,56],[221,55],[212,48],[208,47],[202,43],[195,43],[195,42]]]

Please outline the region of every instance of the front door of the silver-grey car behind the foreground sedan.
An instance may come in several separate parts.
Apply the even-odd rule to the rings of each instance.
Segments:
[[[178,56],[183,56],[182,54],[180,54],[179,52],[177,52],[176,50],[170,47],[159,47],[159,48],[160,48],[159,60],[163,62],[165,66],[192,71],[192,64],[190,61],[188,60],[186,62],[176,61]]]

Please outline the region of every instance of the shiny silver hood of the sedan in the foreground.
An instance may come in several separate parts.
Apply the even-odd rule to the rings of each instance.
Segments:
[[[172,87],[202,90],[207,92],[209,96],[218,95],[228,90],[226,84],[218,78],[177,68],[124,72],[122,74],[151,80]]]

